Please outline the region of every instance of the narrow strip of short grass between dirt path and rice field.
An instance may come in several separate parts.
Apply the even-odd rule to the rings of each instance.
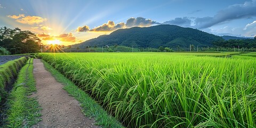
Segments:
[[[57,79],[57,81],[65,85],[64,89],[81,103],[81,107],[83,108],[82,112],[86,116],[95,118],[97,125],[101,125],[101,127],[123,127],[121,123],[108,115],[107,112],[100,105],[98,105],[97,102],[89,97],[89,95],[87,95],[81,89],[78,89],[78,87],[74,85],[73,82],[60,74],[58,70],[51,67],[45,61],[43,61],[43,63],[45,68],[50,71],[50,73]]]

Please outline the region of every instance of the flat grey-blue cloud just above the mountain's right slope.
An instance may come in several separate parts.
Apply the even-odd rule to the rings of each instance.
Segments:
[[[191,20],[188,17],[175,18],[174,20],[165,21],[161,24],[178,25],[178,26],[191,26]]]

